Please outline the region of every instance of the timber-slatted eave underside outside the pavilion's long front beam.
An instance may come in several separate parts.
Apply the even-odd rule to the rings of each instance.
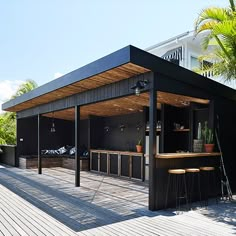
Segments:
[[[8,111],[17,112],[17,111],[29,109],[37,105],[49,103],[49,102],[52,102],[61,98],[71,96],[73,94],[81,93],[86,90],[94,89],[94,88],[97,88],[106,84],[111,84],[111,83],[114,83],[123,79],[136,76],[138,74],[143,74],[148,71],[149,70],[144,67],[141,67],[132,63],[127,63],[125,65],[113,68],[109,71],[105,71],[98,75],[84,79],[82,81],[70,84],[66,87],[54,90],[42,96],[33,98],[29,101],[23,102],[16,106],[10,107]]]

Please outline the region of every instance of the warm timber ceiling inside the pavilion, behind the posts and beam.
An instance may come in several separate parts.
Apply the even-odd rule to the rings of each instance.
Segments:
[[[171,94],[166,92],[157,92],[157,108],[160,109],[161,104],[169,104],[175,107],[189,106],[190,102],[208,104],[209,100],[182,96],[177,94]],[[87,119],[89,115],[94,116],[116,116],[130,113],[142,112],[144,106],[149,106],[149,93],[142,93],[140,96],[132,95],[128,97],[122,97],[109,101],[94,103],[81,107],[80,116],[81,119]],[[65,120],[74,120],[74,108],[56,111],[53,114],[47,113],[44,116]]]

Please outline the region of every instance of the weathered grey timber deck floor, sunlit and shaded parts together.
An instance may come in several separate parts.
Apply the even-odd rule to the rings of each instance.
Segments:
[[[147,210],[148,186],[90,172],[0,168],[0,235],[233,235],[236,203]]]

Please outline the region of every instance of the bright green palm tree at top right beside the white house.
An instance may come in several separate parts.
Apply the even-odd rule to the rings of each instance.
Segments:
[[[236,79],[236,11],[235,0],[229,0],[230,7],[211,7],[202,10],[195,22],[196,35],[207,32],[202,41],[203,49],[217,45],[216,49],[200,60],[213,62],[211,68],[215,75],[225,76],[226,80]]]

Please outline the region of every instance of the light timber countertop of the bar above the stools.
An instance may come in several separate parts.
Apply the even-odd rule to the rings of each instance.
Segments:
[[[173,159],[173,158],[186,158],[186,157],[214,157],[220,156],[220,152],[181,152],[181,153],[160,153],[156,155],[156,158],[161,159]]]

